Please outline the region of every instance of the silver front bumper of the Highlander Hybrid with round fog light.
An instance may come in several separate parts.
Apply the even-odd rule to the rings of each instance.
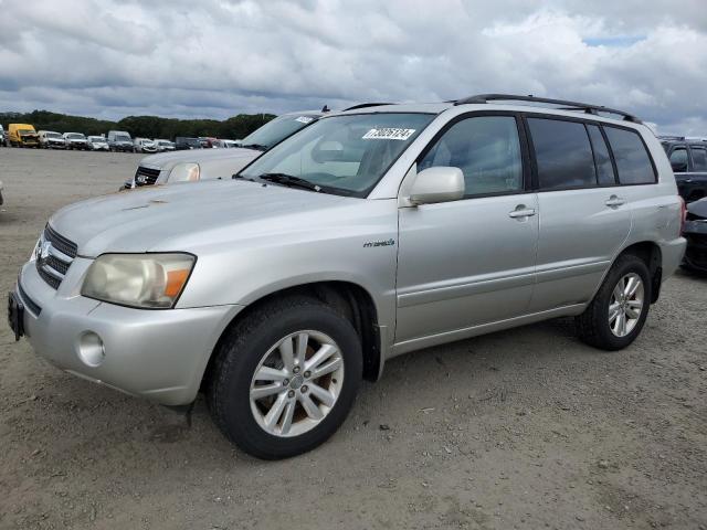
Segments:
[[[15,295],[25,307],[24,333],[34,351],[66,372],[131,395],[165,405],[191,403],[219,337],[241,306],[144,310],[85,298],[77,286],[91,263],[75,258],[57,290],[34,262],[22,267]],[[97,365],[96,336],[103,344]]]

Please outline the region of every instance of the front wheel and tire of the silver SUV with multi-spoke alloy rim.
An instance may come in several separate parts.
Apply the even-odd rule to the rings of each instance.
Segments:
[[[254,310],[222,341],[207,388],[215,424],[244,452],[287,458],[344,423],[362,373],[358,333],[312,298]]]

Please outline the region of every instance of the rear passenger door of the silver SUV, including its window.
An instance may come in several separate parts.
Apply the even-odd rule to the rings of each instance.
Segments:
[[[530,310],[589,300],[631,230],[601,128],[574,118],[526,118],[540,237]]]

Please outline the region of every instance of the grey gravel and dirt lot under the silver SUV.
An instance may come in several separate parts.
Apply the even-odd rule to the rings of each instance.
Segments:
[[[0,290],[48,216],[140,157],[0,149]],[[4,319],[4,316],[2,316]],[[391,361],[340,432],[255,460],[212,425],[59,372],[0,326],[0,528],[707,528],[707,279],[627,350],[555,320]]]

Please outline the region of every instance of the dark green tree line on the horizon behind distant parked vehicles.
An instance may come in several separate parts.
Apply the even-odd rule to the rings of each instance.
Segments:
[[[108,130],[127,130],[130,136],[141,138],[175,139],[177,136],[240,139],[266,124],[272,114],[239,114],[222,121],[218,119],[177,119],[159,116],[128,116],[118,121],[70,116],[67,114],[33,110],[31,113],[0,113],[0,124],[30,124],[36,130],[56,132],[83,132],[107,135]]]

